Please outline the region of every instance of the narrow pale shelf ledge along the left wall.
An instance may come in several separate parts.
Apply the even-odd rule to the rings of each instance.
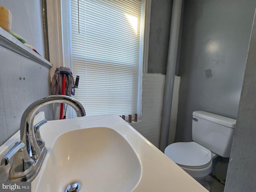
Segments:
[[[26,58],[29,58],[43,66],[52,68],[52,64],[45,58],[24,45],[20,40],[12,36],[6,30],[0,27],[0,46],[8,48]]]

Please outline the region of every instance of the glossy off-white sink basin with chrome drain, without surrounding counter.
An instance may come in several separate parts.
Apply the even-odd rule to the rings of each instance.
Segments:
[[[80,182],[82,192],[130,192],[142,175],[133,148],[111,128],[66,132],[48,153],[36,192],[64,192],[72,182]]]

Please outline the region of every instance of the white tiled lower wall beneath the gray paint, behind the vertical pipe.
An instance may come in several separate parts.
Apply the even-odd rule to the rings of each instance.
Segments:
[[[178,108],[178,87],[180,77],[175,77],[174,81],[174,96],[173,96],[173,106],[175,110],[172,112],[172,126],[176,127],[176,116]],[[162,74],[143,74],[142,78],[142,118],[141,122],[132,123],[131,126],[134,127],[140,134],[146,137],[152,144],[156,147],[159,146],[160,140],[160,129],[161,129],[161,118],[162,118],[162,104],[164,97],[164,84],[165,75]],[[178,84],[178,86],[176,85]],[[174,138],[175,131],[170,138]]]

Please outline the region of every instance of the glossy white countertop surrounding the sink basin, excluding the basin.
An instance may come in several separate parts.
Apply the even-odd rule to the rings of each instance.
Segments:
[[[108,127],[116,130],[124,136],[136,152],[142,165],[142,176],[136,188],[134,188],[134,192],[208,192],[132,126],[118,115],[112,114],[54,120],[44,124],[40,128],[40,132],[48,152],[41,170],[44,169],[48,154],[58,136],[71,130],[92,127]],[[19,134],[17,135],[19,136]],[[1,147],[0,153],[2,153]],[[36,192],[40,176],[41,172],[32,181],[32,192]]]

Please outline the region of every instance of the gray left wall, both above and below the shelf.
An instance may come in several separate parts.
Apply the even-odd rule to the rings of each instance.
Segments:
[[[41,0],[0,0],[12,13],[12,31],[44,56]],[[49,68],[0,46],[0,145],[19,128],[24,110],[35,100],[50,95]],[[21,79],[24,77],[25,79]],[[46,118],[52,108],[46,106]]]

